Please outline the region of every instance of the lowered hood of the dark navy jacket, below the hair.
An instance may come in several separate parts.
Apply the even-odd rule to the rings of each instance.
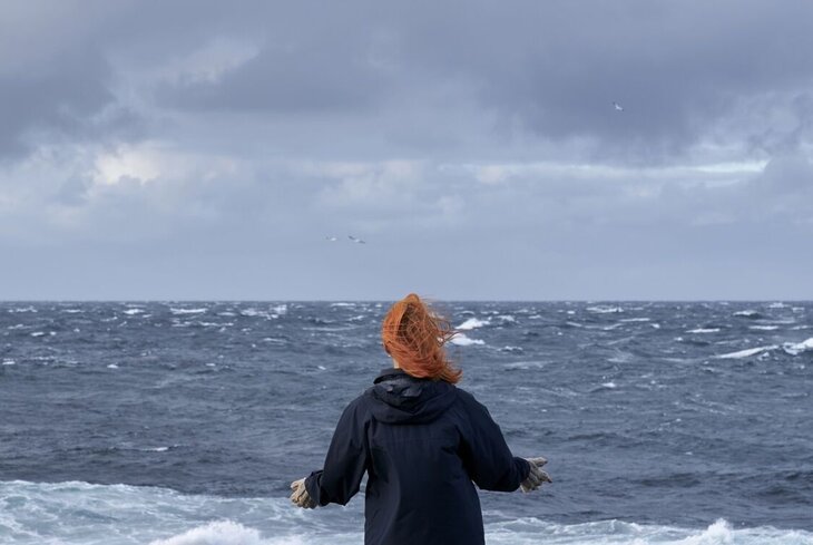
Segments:
[[[417,379],[402,369],[386,369],[368,390],[373,417],[385,424],[423,424],[441,416],[457,398],[443,380]]]

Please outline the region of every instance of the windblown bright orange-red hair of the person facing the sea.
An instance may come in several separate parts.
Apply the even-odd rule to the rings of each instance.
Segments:
[[[414,293],[394,303],[381,324],[384,350],[401,369],[412,377],[445,380],[452,385],[463,372],[452,367],[443,346],[456,333],[449,320]]]

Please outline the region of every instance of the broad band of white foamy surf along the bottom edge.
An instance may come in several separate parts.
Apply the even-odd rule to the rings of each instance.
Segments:
[[[0,544],[40,545],[350,545],[363,542],[362,504],[320,513],[287,497],[184,495],[168,488],[81,481],[0,481]],[[559,524],[486,513],[490,545],[813,545],[813,533],[701,528],[600,520]],[[494,520],[497,522],[490,522]]]

